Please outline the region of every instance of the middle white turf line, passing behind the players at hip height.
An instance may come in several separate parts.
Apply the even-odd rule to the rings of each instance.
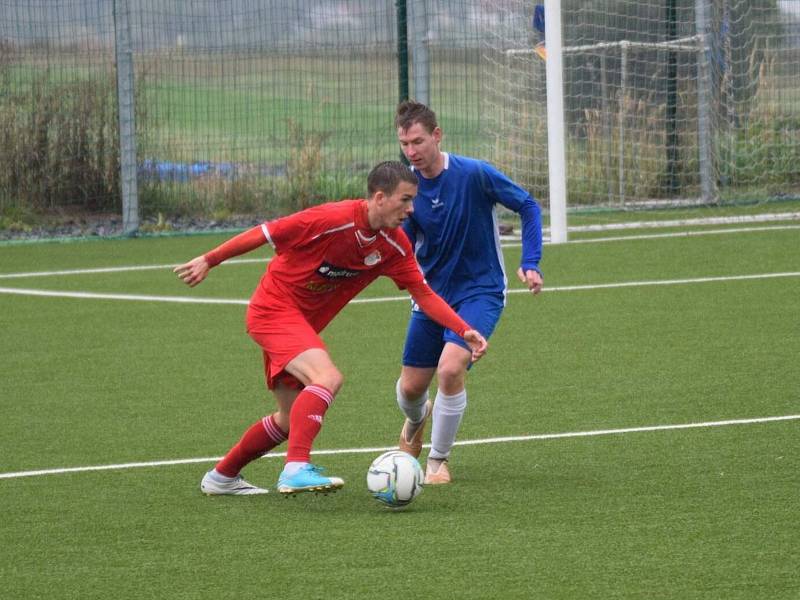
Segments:
[[[695,283],[713,283],[725,281],[746,281],[754,279],[775,279],[780,277],[800,277],[800,271],[787,273],[759,273],[754,275],[727,275],[719,277],[695,277],[692,279],[662,279],[653,281],[621,281],[618,283],[592,283],[586,285],[562,285],[545,288],[544,292],[577,292],[585,290],[602,290],[627,287],[647,287],[662,285],[689,285]],[[515,288],[509,294],[529,294],[527,289]],[[81,298],[92,300],[128,300],[138,302],[173,302],[182,304],[236,304],[247,305],[248,300],[235,298],[202,298],[196,296],[147,296],[139,294],[105,294],[98,292],[66,292],[59,290],[37,290],[29,288],[0,287],[0,294],[16,294],[19,296],[43,296],[48,298]],[[379,298],[356,298],[350,304],[374,304],[377,302],[408,301],[409,296],[383,296]]]

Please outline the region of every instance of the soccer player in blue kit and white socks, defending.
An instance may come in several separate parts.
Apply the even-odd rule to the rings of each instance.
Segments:
[[[397,107],[400,147],[419,179],[414,213],[403,228],[425,279],[462,319],[488,339],[506,297],[496,204],[518,213],[522,259],[517,276],[533,294],[542,290],[542,220],[531,195],[490,164],[442,152],[436,114],[407,100]],[[471,352],[452,331],[413,305],[397,381],[397,403],[405,414],[400,449],[419,456],[432,417],[426,484],[450,483],[447,464],[467,407],[465,389]],[[434,402],[428,388],[437,376]]]

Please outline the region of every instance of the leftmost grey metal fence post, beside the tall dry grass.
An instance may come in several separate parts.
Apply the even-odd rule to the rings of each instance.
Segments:
[[[136,180],[136,121],[134,73],[128,0],[114,0],[114,43],[119,112],[119,163],[122,188],[122,228],[127,235],[139,230],[139,196]]]

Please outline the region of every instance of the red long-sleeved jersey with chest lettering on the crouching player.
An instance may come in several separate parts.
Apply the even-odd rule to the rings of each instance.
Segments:
[[[402,230],[370,227],[365,200],[323,204],[263,223],[205,257],[214,266],[266,242],[276,256],[253,293],[253,308],[289,303],[319,332],[361,290],[386,275],[398,288],[408,288],[437,322],[462,336],[469,329],[425,283]]]

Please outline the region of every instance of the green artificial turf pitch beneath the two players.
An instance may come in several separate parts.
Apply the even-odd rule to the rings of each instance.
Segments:
[[[530,439],[800,414],[800,229],[666,231],[708,229],[546,246],[548,291],[511,283],[460,433],[528,439],[457,447],[455,482],[398,512],[364,478],[402,422],[406,302],[350,305],[324,336],[346,381],[315,446],[341,452],[316,460],[344,490],[208,498],[203,472],[272,406],[244,305],[0,293],[2,595],[800,597],[800,420]],[[0,246],[0,288],[245,301],[263,262],[193,290],[167,266],[223,239]],[[125,266],[154,268],[20,275]],[[197,462],[12,476],[178,459]],[[280,467],[245,474],[272,485]]]

